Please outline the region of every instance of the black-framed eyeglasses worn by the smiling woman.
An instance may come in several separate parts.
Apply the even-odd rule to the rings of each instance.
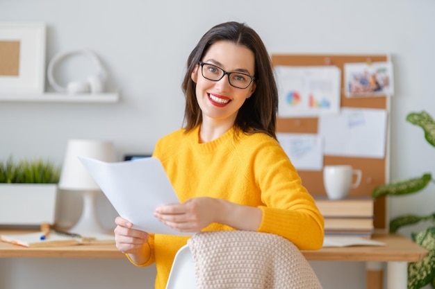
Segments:
[[[211,81],[219,81],[227,75],[229,84],[233,87],[245,89],[255,79],[254,76],[249,76],[246,73],[224,71],[224,69],[213,64],[199,62],[199,65],[201,65],[201,73],[204,78]]]

